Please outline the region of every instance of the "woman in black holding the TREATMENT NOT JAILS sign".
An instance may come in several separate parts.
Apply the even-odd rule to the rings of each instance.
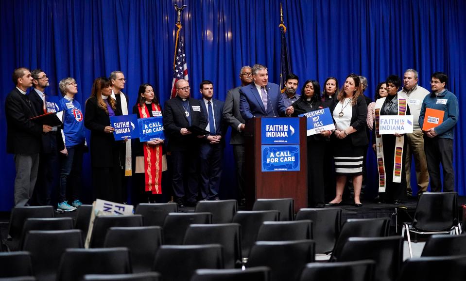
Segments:
[[[301,88],[301,97],[292,104],[292,116],[326,108],[320,97],[320,85],[315,80],[307,80]],[[308,136],[308,204],[322,208],[324,197],[324,157],[325,142],[331,131],[322,131]]]

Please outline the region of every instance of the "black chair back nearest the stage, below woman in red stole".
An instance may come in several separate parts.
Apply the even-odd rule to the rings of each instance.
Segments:
[[[163,226],[167,215],[177,212],[177,203],[139,203],[134,213],[142,215],[144,226]]]

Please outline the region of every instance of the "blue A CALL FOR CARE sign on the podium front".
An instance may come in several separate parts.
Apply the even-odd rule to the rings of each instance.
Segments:
[[[262,145],[262,172],[299,171],[299,144]]]

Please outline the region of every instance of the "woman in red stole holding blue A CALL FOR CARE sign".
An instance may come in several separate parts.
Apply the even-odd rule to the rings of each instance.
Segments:
[[[162,117],[162,108],[154,94],[151,84],[141,84],[138,100],[133,107],[133,113],[140,118]],[[159,121],[161,122],[161,121]],[[133,204],[153,203],[152,194],[162,194],[162,149],[163,140],[153,141],[133,140],[133,159],[136,172],[133,176]]]

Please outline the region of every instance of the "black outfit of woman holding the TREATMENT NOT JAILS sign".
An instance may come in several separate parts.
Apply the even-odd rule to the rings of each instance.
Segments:
[[[324,102],[306,101],[301,97],[292,104],[294,108],[293,116],[298,116],[306,112],[323,109],[327,106]],[[314,207],[325,202],[324,192],[324,158],[326,155],[326,138],[320,134],[315,134],[307,138],[308,144],[308,205]]]

